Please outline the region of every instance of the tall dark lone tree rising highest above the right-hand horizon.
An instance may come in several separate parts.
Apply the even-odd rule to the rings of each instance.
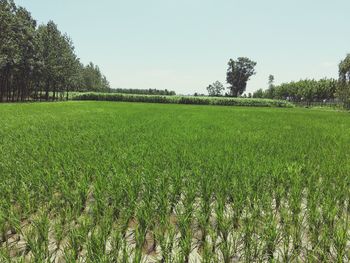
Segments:
[[[229,90],[231,96],[238,97],[244,93],[248,80],[256,74],[254,69],[256,64],[256,62],[245,57],[239,57],[237,60],[229,60],[226,81],[230,84]]]

